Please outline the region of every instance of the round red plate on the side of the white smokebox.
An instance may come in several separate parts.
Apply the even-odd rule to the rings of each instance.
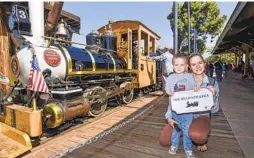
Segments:
[[[44,60],[52,67],[57,67],[61,63],[60,55],[56,51],[50,49],[44,51]]]

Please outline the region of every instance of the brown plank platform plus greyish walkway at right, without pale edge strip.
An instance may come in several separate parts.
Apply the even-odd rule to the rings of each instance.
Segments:
[[[245,83],[235,74],[220,83],[218,114],[212,116],[212,131],[207,152],[197,151],[198,158],[252,158],[254,157],[254,84]],[[168,147],[158,144],[168,98],[138,117],[132,123],[104,138],[74,150],[64,157],[186,157],[183,146],[176,156],[167,153]]]

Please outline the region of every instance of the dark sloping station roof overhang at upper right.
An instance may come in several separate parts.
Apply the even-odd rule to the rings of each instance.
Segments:
[[[245,43],[254,44],[254,3],[238,2],[224,30],[218,38],[212,54],[222,54],[233,49],[240,49]]]

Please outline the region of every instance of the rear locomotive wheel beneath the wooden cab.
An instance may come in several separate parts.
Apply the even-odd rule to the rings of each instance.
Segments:
[[[125,104],[129,104],[134,96],[134,88],[131,82],[124,82],[120,85],[120,88],[124,88],[124,93],[122,94],[122,101]]]

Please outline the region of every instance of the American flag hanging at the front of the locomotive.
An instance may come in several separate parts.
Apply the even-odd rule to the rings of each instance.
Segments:
[[[40,71],[36,55],[33,55],[32,67],[29,74],[30,90],[49,93],[48,86]]]

